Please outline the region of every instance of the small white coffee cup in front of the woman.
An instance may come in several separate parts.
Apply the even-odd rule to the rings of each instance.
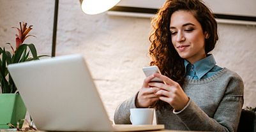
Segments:
[[[154,108],[131,108],[130,121],[133,125],[153,124]]]

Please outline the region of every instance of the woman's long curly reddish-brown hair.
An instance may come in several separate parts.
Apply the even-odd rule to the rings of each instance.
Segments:
[[[170,18],[172,13],[179,10],[191,11],[202,26],[203,32],[209,34],[209,38],[205,40],[206,54],[215,48],[218,34],[213,13],[200,0],[167,0],[158,10],[156,17],[151,21],[153,31],[149,36],[149,55],[152,58],[150,65],[158,66],[163,75],[183,86],[186,76],[184,59],[174,48],[170,34]],[[167,103],[157,101],[153,105],[157,109],[163,106],[167,106]]]

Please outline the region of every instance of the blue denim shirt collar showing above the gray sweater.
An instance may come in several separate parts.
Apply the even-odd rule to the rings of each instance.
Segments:
[[[204,59],[190,64],[184,60],[186,76],[192,79],[200,80],[215,75],[218,71],[222,70],[220,66],[216,65],[215,58],[212,54],[207,55]]]

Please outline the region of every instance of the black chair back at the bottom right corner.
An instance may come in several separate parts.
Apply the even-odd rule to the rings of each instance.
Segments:
[[[242,110],[237,132],[256,132],[256,114],[250,110]]]

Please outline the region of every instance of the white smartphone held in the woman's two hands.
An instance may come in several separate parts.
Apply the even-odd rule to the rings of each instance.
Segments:
[[[153,75],[154,73],[160,73],[161,74],[161,72],[160,72],[160,70],[157,66],[143,67],[142,70],[143,70],[144,74],[146,75],[146,77],[149,77],[150,75]],[[161,83],[164,84],[163,80],[161,80],[160,78],[157,78],[157,77],[153,78],[151,80],[151,82],[161,82]]]

